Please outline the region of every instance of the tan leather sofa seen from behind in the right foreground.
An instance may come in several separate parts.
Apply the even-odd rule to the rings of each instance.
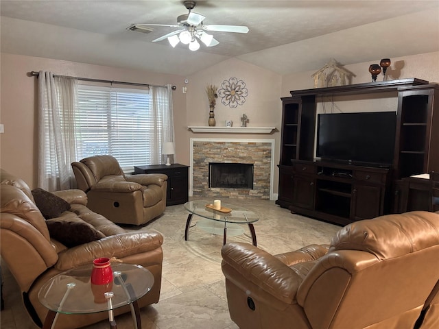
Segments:
[[[357,221],[331,245],[273,256],[222,248],[230,317],[241,329],[439,328],[439,215]],[[435,288],[436,285],[436,288]]]

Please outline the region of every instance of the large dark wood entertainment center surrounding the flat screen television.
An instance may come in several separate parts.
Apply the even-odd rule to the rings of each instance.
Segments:
[[[366,94],[374,97],[384,92],[398,97],[392,164],[369,167],[347,161],[316,160],[318,97]],[[401,204],[401,195],[407,195],[406,178],[439,171],[439,84],[411,78],[292,90],[290,94],[291,97],[281,99],[276,204],[301,215],[346,225],[403,212],[407,208]]]

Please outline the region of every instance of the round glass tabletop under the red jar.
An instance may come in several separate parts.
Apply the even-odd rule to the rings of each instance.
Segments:
[[[41,287],[38,300],[57,313],[97,313],[131,304],[154,284],[152,273],[140,265],[112,263],[111,268],[113,282],[108,285],[91,284],[93,265],[59,273]],[[110,305],[104,296],[108,291],[114,294]]]

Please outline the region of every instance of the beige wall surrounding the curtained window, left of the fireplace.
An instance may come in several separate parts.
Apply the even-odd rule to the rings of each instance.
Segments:
[[[1,102],[0,123],[5,127],[0,134],[1,168],[19,175],[31,188],[36,187],[38,161],[38,82],[28,77],[30,71],[51,71],[58,75],[90,77],[94,79],[143,84],[172,84],[174,121],[176,132],[176,158],[187,158],[184,144],[186,134],[186,95],[181,93],[183,78],[145,71],[121,69],[1,53]],[[187,161],[181,160],[183,164]]]

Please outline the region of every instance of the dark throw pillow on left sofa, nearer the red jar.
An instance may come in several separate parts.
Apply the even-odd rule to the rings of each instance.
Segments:
[[[75,247],[75,245],[82,245],[105,237],[102,232],[78,217],[48,219],[46,223],[50,236],[66,247]]]

